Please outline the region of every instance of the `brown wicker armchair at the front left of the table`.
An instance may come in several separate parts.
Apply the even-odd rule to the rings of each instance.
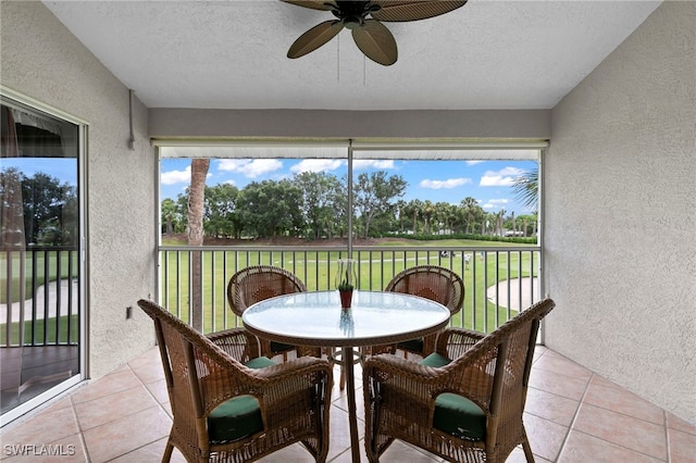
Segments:
[[[154,321],[174,418],[163,462],[174,447],[189,462],[241,462],[295,442],[326,461],[327,361],[275,364],[244,328],[203,336],[152,301],[138,305]]]

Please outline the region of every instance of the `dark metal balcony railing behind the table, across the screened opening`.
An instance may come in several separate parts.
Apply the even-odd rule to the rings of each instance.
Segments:
[[[458,273],[465,285],[464,306],[451,326],[492,331],[540,299],[539,247],[353,247],[359,261],[360,290],[382,290],[400,271],[414,265],[440,265]],[[172,313],[196,326],[190,310],[192,256],[201,262],[202,313],[197,322],[204,333],[241,326],[227,305],[227,281],[249,265],[275,265],[297,275],[308,290],[334,289],[337,260],[345,247],[256,246],[160,248],[160,301]]]

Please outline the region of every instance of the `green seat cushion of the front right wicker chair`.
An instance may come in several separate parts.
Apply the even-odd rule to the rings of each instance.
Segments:
[[[437,368],[450,362],[446,356],[432,353],[419,363]],[[445,392],[435,399],[433,427],[461,439],[483,440],[486,437],[486,414],[471,400]]]

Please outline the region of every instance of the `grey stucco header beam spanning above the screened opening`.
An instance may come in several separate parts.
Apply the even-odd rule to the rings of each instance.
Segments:
[[[550,136],[550,111],[149,111],[152,137],[495,138]]]

